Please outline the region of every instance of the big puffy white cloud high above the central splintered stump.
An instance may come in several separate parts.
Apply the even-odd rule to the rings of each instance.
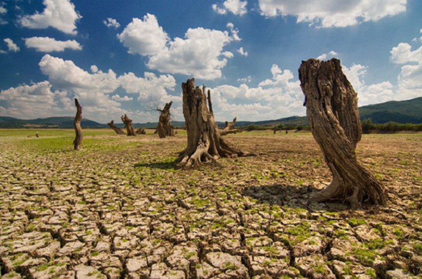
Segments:
[[[227,31],[198,27],[189,28],[185,38],[170,40],[156,17],[147,14],[143,19],[134,18],[118,38],[129,53],[148,56],[149,69],[215,79],[221,76],[226,58],[231,56],[223,50],[224,46],[240,39],[234,26],[228,27],[233,30],[233,36]]]

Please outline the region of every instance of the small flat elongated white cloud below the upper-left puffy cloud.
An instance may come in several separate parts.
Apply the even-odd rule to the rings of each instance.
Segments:
[[[34,48],[39,52],[60,52],[65,49],[81,50],[82,46],[75,40],[56,41],[50,37],[31,37],[25,38],[25,46],[27,48]]]

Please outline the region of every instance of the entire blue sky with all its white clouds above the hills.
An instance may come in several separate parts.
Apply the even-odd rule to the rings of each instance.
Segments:
[[[337,57],[359,105],[422,96],[419,0],[0,0],[0,116],[155,122],[181,83],[217,121],[305,115],[297,69]]]

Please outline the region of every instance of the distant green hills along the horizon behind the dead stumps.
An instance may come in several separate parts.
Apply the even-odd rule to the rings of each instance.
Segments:
[[[376,105],[362,106],[359,108],[360,119],[371,118],[373,123],[422,123],[422,97],[407,101],[389,101]],[[0,116],[0,128],[73,128],[73,117],[48,117],[32,120],[22,120],[13,117]],[[231,120],[231,119],[230,119]],[[173,126],[184,127],[184,121],[173,121]],[[287,118],[265,120],[265,121],[238,121],[237,127],[255,124],[258,126],[283,125],[307,125],[306,116],[291,116]],[[116,123],[123,127],[123,123]],[[223,122],[217,122],[219,127],[224,126]],[[101,124],[92,120],[82,119],[83,128],[104,128],[107,124]],[[157,123],[135,123],[134,127],[155,128]]]

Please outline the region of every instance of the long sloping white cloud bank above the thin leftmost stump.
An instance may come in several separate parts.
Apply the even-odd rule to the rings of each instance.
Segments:
[[[102,123],[123,113],[131,114],[134,121],[156,121],[157,116],[149,109],[151,103],[161,105],[173,101],[174,109],[181,107],[181,96],[167,92],[174,91],[176,86],[174,77],[169,74],[157,76],[145,72],[144,77],[139,77],[129,72],[118,76],[111,69],[103,72],[95,65],[88,72],[70,60],[49,54],[44,55],[39,66],[54,89],[79,98],[86,118]],[[124,110],[121,102],[133,101],[135,96],[138,96],[139,110]]]

